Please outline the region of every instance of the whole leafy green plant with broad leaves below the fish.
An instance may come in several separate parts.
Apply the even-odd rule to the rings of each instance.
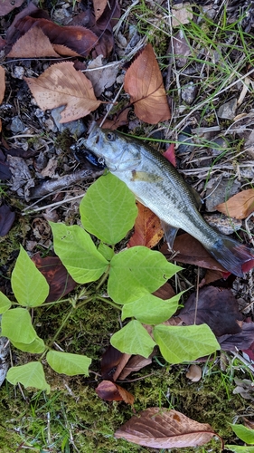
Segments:
[[[49,391],[42,367],[44,359],[59,373],[87,375],[91,362],[88,357],[53,351],[52,345],[71,313],[90,301],[113,305],[121,310],[122,320],[131,318],[111,337],[112,345],[121,352],[148,357],[157,344],[166,361],[181,363],[220,349],[206,324],[186,327],[163,324],[177,310],[181,294],[165,301],[153,293],[181,269],[179,266],[144,246],[115,253],[115,245],[127,235],[135,218],[134,195],[122,181],[108,173],[90,186],[80,203],[83,227],[51,223],[55,253],[81,286],[80,293],[70,299],[70,310],[48,343],[34,330],[30,311],[42,306],[49,285],[21,246],[11,277],[15,302],[0,294],[2,335],[17,349],[40,357],[38,361],[11,368],[8,381]],[[99,238],[98,246],[89,234]],[[91,285],[91,282],[98,284]],[[154,338],[143,324],[152,326]]]

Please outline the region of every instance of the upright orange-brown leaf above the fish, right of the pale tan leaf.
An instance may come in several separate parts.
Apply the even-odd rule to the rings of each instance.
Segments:
[[[151,44],[146,45],[128,68],[124,88],[140,120],[157,124],[170,119],[162,74]]]

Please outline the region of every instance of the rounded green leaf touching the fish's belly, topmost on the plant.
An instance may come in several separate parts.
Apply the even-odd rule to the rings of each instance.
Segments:
[[[80,217],[86,230],[106,244],[114,245],[134,226],[135,196],[127,185],[108,173],[87,190],[80,203]]]

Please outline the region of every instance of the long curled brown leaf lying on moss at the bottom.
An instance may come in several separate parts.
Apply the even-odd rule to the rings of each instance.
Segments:
[[[117,439],[151,448],[197,447],[213,436],[215,433],[207,423],[198,423],[177,410],[165,408],[144,410],[115,433]]]

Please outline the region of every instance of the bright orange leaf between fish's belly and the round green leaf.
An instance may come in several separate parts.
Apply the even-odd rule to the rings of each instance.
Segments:
[[[134,235],[131,236],[127,246],[146,246],[152,248],[164,236],[160,219],[148,208],[136,201],[138,209],[134,226]]]

